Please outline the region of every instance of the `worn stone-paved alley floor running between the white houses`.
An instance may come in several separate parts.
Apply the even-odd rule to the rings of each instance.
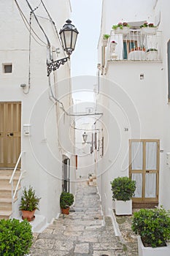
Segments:
[[[34,234],[31,256],[125,256],[128,247],[115,236],[112,219],[101,214],[96,187],[81,182],[74,208],[43,233]]]

